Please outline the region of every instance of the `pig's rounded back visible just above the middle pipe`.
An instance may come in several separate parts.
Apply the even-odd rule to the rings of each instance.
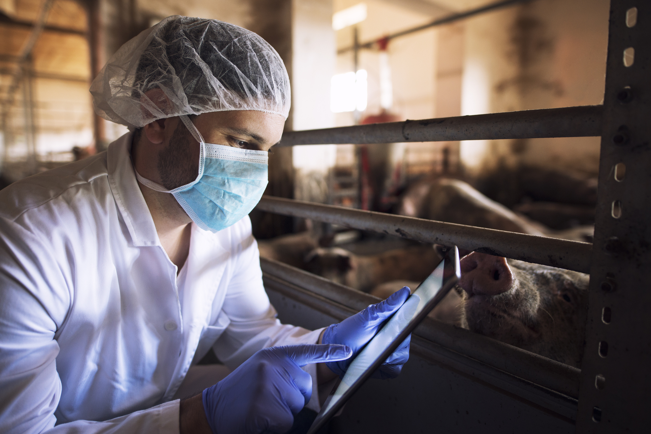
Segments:
[[[468,183],[450,178],[415,183],[400,198],[397,213],[520,234],[545,235],[540,226],[482,195]]]

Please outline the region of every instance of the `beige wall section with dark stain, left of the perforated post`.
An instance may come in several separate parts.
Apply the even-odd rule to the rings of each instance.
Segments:
[[[462,114],[598,104],[607,0],[538,0],[465,23]],[[462,142],[471,176],[519,165],[596,174],[599,139]]]

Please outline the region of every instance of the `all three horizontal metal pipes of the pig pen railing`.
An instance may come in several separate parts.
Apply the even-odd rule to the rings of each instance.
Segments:
[[[284,133],[281,144],[278,146],[598,136],[602,131],[602,109],[601,105],[590,105],[291,131]],[[338,224],[359,230],[370,230],[424,243],[457,245],[470,251],[505,256],[581,273],[590,271],[590,256],[592,255],[592,244],[590,243],[278,197],[264,196],[256,208],[261,211]],[[307,292],[296,289],[286,295],[317,310],[326,309],[326,313],[333,318],[346,318],[353,312],[376,301],[375,297],[368,294],[357,292],[288,265],[264,259],[261,260],[261,265],[268,284],[273,284],[274,279],[281,279],[295,285],[296,288],[303,288]],[[278,286],[279,284],[276,282],[274,285]],[[284,288],[282,284],[280,287]],[[415,342],[420,342],[418,341],[420,339],[422,340],[421,344],[429,342],[439,346],[436,347],[438,349],[435,349],[434,353],[441,355],[447,351],[447,356],[441,356],[443,358],[456,358],[457,362],[461,364],[464,364],[463,360],[475,360],[474,363],[480,364],[478,366],[481,369],[493,370],[492,373],[488,373],[489,377],[506,375],[504,380],[506,383],[509,381],[530,382],[536,385],[535,387],[553,390],[562,396],[572,398],[579,394],[578,385],[581,371],[571,366],[439,321],[426,320],[415,334],[417,336]],[[472,373],[469,375],[475,375],[474,369],[471,369]],[[574,405],[572,404],[570,407]]]

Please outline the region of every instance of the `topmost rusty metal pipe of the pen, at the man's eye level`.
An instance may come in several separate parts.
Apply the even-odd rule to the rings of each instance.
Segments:
[[[276,146],[589,137],[601,134],[602,105],[580,105],[288,131],[283,133],[283,139]]]

